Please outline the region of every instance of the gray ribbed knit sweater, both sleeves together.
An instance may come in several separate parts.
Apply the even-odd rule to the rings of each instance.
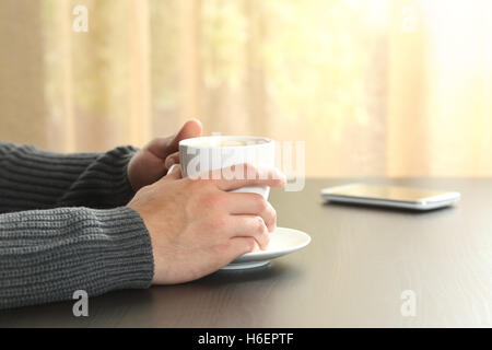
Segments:
[[[0,142],[0,308],[150,285],[150,236],[124,207],[134,152],[63,155]]]

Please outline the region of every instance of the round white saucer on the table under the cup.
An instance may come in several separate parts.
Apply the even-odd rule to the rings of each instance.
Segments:
[[[270,233],[270,244],[267,250],[247,253],[224,266],[223,270],[249,269],[270,262],[271,259],[304,248],[311,242],[311,236],[298,230],[277,228]]]

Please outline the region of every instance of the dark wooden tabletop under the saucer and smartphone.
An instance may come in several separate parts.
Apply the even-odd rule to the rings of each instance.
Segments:
[[[0,326],[491,327],[492,179],[367,180],[461,191],[456,207],[426,213],[323,202],[323,187],[348,182],[272,191],[279,225],[313,241],[268,267],[112,292],[90,299],[89,317],[72,302],[0,311]],[[407,290],[414,316],[401,314]]]

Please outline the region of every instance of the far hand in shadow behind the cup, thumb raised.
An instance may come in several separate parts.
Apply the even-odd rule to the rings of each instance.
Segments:
[[[168,138],[156,138],[140,150],[128,164],[128,179],[134,191],[165,176],[174,163],[178,163],[180,140],[201,136],[201,124],[188,120],[181,129]]]

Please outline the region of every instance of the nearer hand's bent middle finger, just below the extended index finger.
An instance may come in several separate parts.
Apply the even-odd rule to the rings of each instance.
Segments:
[[[273,207],[258,194],[227,192],[225,206],[231,214],[250,214],[263,219],[268,232],[277,229],[277,212]]]

